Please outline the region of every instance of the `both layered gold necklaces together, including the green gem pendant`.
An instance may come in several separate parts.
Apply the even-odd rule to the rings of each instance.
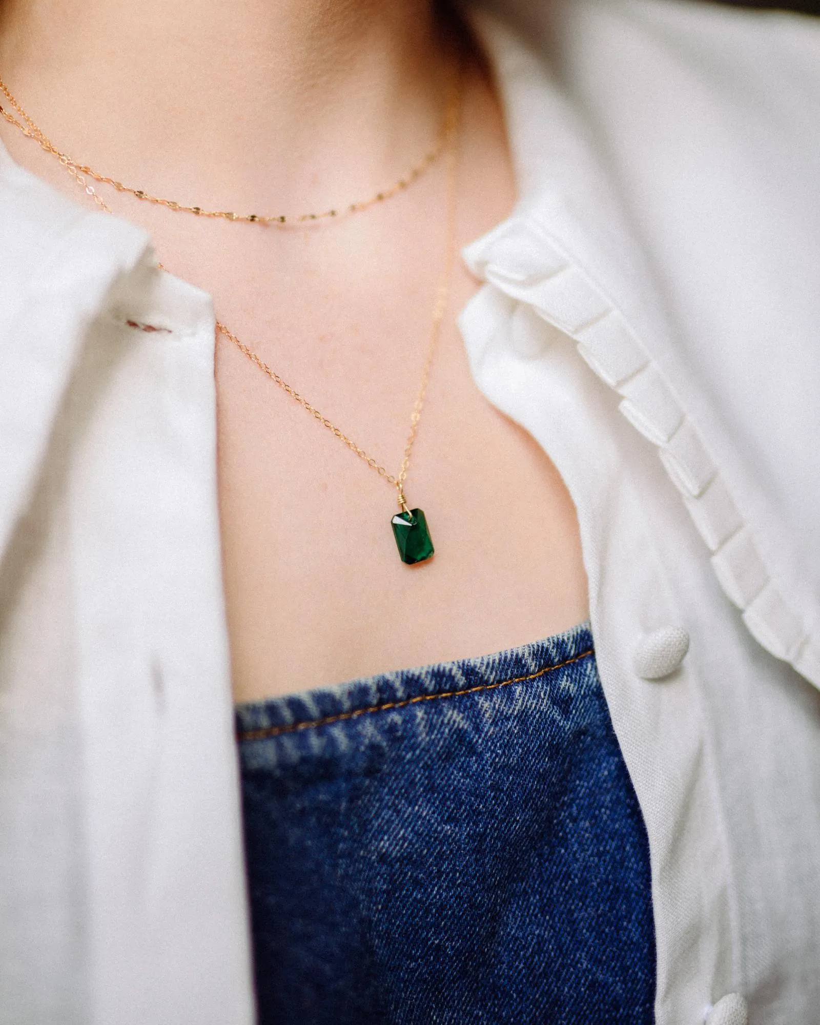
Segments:
[[[362,210],[366,210],[377,203],[388,200],[403,192],[413,181],[416,181],[425,170],[433,166],[440,156],[444,155],[447,168],[447,208],[445,215],[446,244],[444,263],[438,288],[436,290],[436,299],[433,308],[433,318],[427,340],[427,348],[421,370],[421,381],[419,383],[416,400],[413,405],[413,411],[410,416],[410,433],[407,437],[404,458],[402,459],[402,464],[397,474],[389,474],[387,469],[375,458],[373,458],[373,456],[369,455],[365,449],[357,445],[355,441],[344,434],[344,432],[324,416],[306,399],[302,398],[302,396],[299,395],[295,388],[291,387],[287,381],[285,381],[261,359],[261,357],[259,357],[249,345],[246,345],[243,341],[241,341],[233,331],[221,323],[221,321],[216,321],[216,329],[219,334],[232,341],[240,350],[240,352],[244,353],[251,363],[255,364],[255,366],[266,374],[271,380],[278,384],[283,392],[287,393],[287,395],[296,401],[302,409],[311,413],[311,415],[314,416],[324,427],[330,430],[340,442],[343,442],[343,444],[346,445],[352,452],[366,462],[368,466],[374,469],[379,477],[383,478],[387,484],[396,488],[399,512],[393,516],[391,525],[396,539],[396,544],[399,548],[399,555],[401,556],[402,562],[407,564],[424,562],[434,554],[433,540],[430,538],[424,512],[420,508],[411,509],[408,506],[404,493],[404,484],[407,480],[407,473],[410,466],[410,456],[413,451],[413,445],[416,440],[418,424],[421,418],[421,409],[424,404],[424,396],[426,395],[427,380],[429,378],[430,367],[433,365],[433,357],[439,340],[439,335],[441,333],[442,321],[444,320],[444,315],[447,311],[452,269],[455,259],[458,128],[461,110],[461,75],[458,70],[454,71],[448,77],[445,91],[446,100],[435,146],[424,155],[423,159],[419,163],[411,168],[407,174],[395,182],[391,188],[376,193],[369,199],[348,203],[341,207],[331,207],[320,213],[302,213],[296,215],[256,213],[238,214],[230,210],[206,210],[200,206],[190,206],[173,200],[162,199],[158,196],[151,195],[145,190],[132,189],[130,186],[126,186],[116,178],[100,174],[87,164],[74,160],[68,154],[58,150],[51,142],[48,136],[35,124],[32,118],[15,99],[6,84],[3,82],[2,78],[0,78],[0,92],[2,92],[8,100],[8,104],[14,112],[12,114],[11,111],[6,110],[3,106],[0,106],[0,114],[2,114],[5,120],[17,128],[24,135],[36,141],[45,153],[56,159],[74,178],[76,183],[84,190],[86,195],[108,213],[113,213],[114,211],[99,195],[96,188],[88,181],[89,178],[98,184],[109,186],[117,192],[128,193],[141,202],[153,203],[176,213],[188,213],[199,217],[220,217],[225,220],[236,220],[246,223],[249,222],[275,227],[304,224],[306,222],[335,218],[344,214],[355,214]],[[162,263],[159,265],[165,270]]]

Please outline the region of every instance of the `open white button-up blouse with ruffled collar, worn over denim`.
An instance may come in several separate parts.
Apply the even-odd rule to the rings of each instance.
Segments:
[[[504,6],[520,199],[459,323],[578,510],[657,1021],[816,1025],[820,22]],[[253,1017],[213,347],[141,231],[0,149],[2,1025]]]

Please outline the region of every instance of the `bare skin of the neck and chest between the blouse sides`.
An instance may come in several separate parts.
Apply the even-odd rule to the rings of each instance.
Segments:
[[[392,183],[429,147],[444,50],[427,0],[5,0],[0,72],[54,141],[148,192],[301,212]],[[7,125],[24,166],[78,200]],[[467,75],[459,245],[503,219],[515,182],[489,76]],[[108,196],[107,196],[108,198]],[[203,221],[115,196],[160,258],[395,473],[444,253],[440,163],[327,227]],[[547,456],[476,388],[457,263],[407,496],[437,554],[409,568],[395,491],[230,342],[216,354],[219,509],[237,700],[485,654],[587,614],[572,501]]]

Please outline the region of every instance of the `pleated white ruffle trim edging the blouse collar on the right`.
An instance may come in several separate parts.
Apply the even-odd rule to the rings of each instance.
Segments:
[[[820,688],[818,640],[785,598],[697,427],[620,311],[529,218],[499,224],[464,258],[479,278],[573,338],[588,366],[621,396],[620,412],[657,448],[749,632]]]

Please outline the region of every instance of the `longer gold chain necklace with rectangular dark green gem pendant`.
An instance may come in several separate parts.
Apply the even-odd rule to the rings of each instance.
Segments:
[[[101,181],[107,184],[112,184],[117,188],[117,184],[109,178],[105,178],[96,172],[92,171],[86,165],[77,164],[70,160],[51,144],[48,141],[47,137],[43,132],[37,127],[37,125],[32,121],[32,119],[26,114],[23,108],[19,106],[14,96],[9,92],[6,85],[0,79],[0,91],[2,91],[8,98],[9,102],[12,105],[15,111],[20,115],[20,117],[28,125],[28,128],[20,124],[15,118],[11,117],[6,111],[0,107],[0,113],[3,114],[5,119],[9,121],[12,125],[18,128],[24,135],[29,138],[35,139],[40,144],[42,149],[44,149],[50,155],[56,157],[59,163],[66,168],[69,174],[75,179],[78,186],[84,189],[85,193],[107,213],[113,214],[114,211],[106,203],[101,196],[98,195],[93,186],[89,186],[86,181],[85,175],[88,174],[96,181]],[[447,303],[450,295],[450,283],[452,279],[452,269],[455,260],[455,219],[456,219],[456,183],[458,177],[458,127],[460,120],[461,111],[461,89],[460,89],[460,76],[455,79],[455,88],[453,97],[446,104],[446,117],[442,128],[442,145],[440,152],[446,153],[446,165],[447,165],[447,211],[446,211],[446,245],[445,245],[445,256],[444,265],[442,268],[441,277],[439,280],[439,285],[436,290],[436,302],[433,309],[433,321],[430,324],[429,338],[427,342],[427,351],[424,358],[424,364],[421,371],[421,382],[419,384],[418,393],[416,396],[416,401],[413,405],[413,412],[410,417],[410,434],[407,438],[407,444],[404,450],[404,458],[402,459],[402,464],[399,468],[398,474],[395,476],[389,474],[387,469],[376,461],[371,455],[356,444],[351,438],[347,437],[339,427],[337,427],[331,420],[324,416],[315,406],[313,406],[306,399],[302,398],[295,388],[291,387],[272,367],[270,367],[260,356],[258,356],[250,346],[246,345],[239,337],[231,331],[221,321],[216,321],[217,331],[232,341],[239,350],[242,352],[250,361],[254,363],[259,370],[266,374],[271,380],[279,385],[284,392],[286,392],[292,399],[294,399],[311,413],[324,427],[327,427],[340,442],[347,446],[347,448],[354,452],[360,459],[364,460],[368,466],[374,469],[379,477],[383,478],[387,484],[396,488],[400,512],[396,514],[391,520],[391,526],[393,528],[393,534],[396,539],[396,544],[399,548],[399,555],[402,562],[407,564],[421,563],[429,559],[434,554],[433,540],[430,538],[429,529],[427,527],[426,517],[420,508],[411,509],[405,499],[404,494],[404,482],[407,479],[407,471],[410,466],[410,456],[413,450],[413,445],[416,440],[416,434],[418,432],[418,423],[421,419],[421,409],[424,404],[424,397],[427,389],[427,381],[429,379],[429,371],[433,365],[433,357],[436,351],[436,346],[439,340],[439,335],[441,333],[441,326],[444,320],[444,315],[447,311]],[[46,145],[44,145],[46,144]],[[438,155],[438,154],[437,154]],[[432,161],[430,161],[432,163]],[[123,190],[120,190],[123,191]],[[131,192],[131,190],[124,190]],[[136,193],[134,193],[136,195]],[[142,194],[144,196],[146,194]],[[187,210],[188,208],[179,207],[178,205],[165,203],[159,201],[164,206],[168,206],[172,210]],[[370,205],[373,201],[370,201],[366,205]],[[361,207],[360,207],[361,208]],[[192,211],[198,210],[198,208],[191,208]],[[227,216],[225,214],[218,213],[206,213],[205,211],[200,211],[205,216]],[[332,215],[332,214],[331,214]],[[316,215],[320,216],[320,215]],[[324,215],[322,215],[324,216]],[[312,215],[306,215],[302,219],[310,219]],[[245,217],[241,218],[239,216],[231,216],[232,220],[240,219],[253,219],[254,221],[259,221],[264,223],[264,218],[261,217]],[[279,219],[279,218],[277,218]],[[280,222],[283,222],[280,220]],[[159,266],[165,271],[166,268],[162,263]]]

